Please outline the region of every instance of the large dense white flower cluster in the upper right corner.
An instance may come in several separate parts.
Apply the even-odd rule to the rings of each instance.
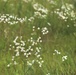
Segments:
[[[73,10],[73,5],[66,3],[65,5],[63,4],[60,9],[56,9],[54,13],[58,14],[60,18],[62,18],[64,21],[67,21],[67,19],[70,17],[71,20],[75,20],[76,15]]]

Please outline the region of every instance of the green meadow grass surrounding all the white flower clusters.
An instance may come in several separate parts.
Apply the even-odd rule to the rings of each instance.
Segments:
[[[64,3],[62,3],[60,0],[56,0],[55,2],[56,4],[50,4],[48,0],[31,0],[28,3],[23,0],[7,0],[5,2],[0,0],[0,17],[2,14],[14,15],[17,18],[27,17],[23,23],[18,21],[17,24],[13,25],[7,22],[4,23],[4,21],[0,22],[0,75],[49,75],[48,73],[50,75],[76,75],[76,14],[73,18],[67,14],[68,19],[65,21],[65,19],[54,13],[56,9],[59,9],[58,12],[65,13],[61,6],[66,5],[66,3],[72,3],[73,5],[73,1],[64,0]],[[35,3],[47,8],[46,18],[38,18],[39,15],[34,15],[34,12],[37,11],[33,8]],[[71,9],[69,13],[74,10],[75,8]],[[40,13],[46,15],[41,11]],[[34,20],[29,21],[30,17],[34,17]],[[11,22],[13,20],[15,19],[11,19]],[[48,22],[51,26],[47,24]],[[35,26],[35,31],[34,35],[31,35],[33,26]],[[37,29],[38,27],[40,27],[40,30]],[[48,34],[42,34],[41,29],[43,27],[48,28]],[[37,62],[32,66],[27,65],[27,61],[37,58],[31,55],[26,60],[22,53],[20,53],[20,57],[15,58],[18,65],[7,67],[12,56],[16,54],[14,52],[15,48],[9,50],[10,44],[15,46],[13,40],[16,36],[22,36],[23,41],[27,41],[30,37],[36,40],[38,36],[41,36],[42,43],[35,45],[33,48],[35,51],[35,47],[41,47],[40,55],[44,61],[42,67],[39,67]],[[20,39],[18,39],[19,41]],[[27,41],[25,48],[27,49],[30,45],[31,43]],[[61,54],[56,54],[55,50],[58,50]],[[32,53],[34,54],[34,52]],[[55,55],[53,55],[54,53]],[[65,55],[67,60],[62,61],[62,57]]]

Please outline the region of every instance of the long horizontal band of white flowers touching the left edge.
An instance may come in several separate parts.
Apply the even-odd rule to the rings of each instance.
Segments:
[[[10,14],[0,14],[0,23],[3,22],[3,23],[8,23],[10,25],[14,25],[14,24],[17,24],[17,23],[23,23],[25,22],[27,19],[27,17],[25,18],[18,18],[17,16],[14,16],[14,15],[10,15]]]

